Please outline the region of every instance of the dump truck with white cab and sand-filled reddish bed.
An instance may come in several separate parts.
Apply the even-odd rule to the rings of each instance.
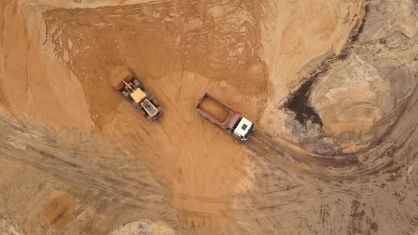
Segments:
[[[246,141],[254,130],[254,122],[250,122],[241,113],[233,111],[208,93],[204,93],[195,109],[202,117],[241,141]]]

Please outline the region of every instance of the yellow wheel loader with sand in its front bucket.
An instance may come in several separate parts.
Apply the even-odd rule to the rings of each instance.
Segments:
[[[116,78],[111,80],[113,87],[129,100],[142,116],[152,122],[162,115],[163,109],[159,102],[131,71],[119,71],[115,76]]]

